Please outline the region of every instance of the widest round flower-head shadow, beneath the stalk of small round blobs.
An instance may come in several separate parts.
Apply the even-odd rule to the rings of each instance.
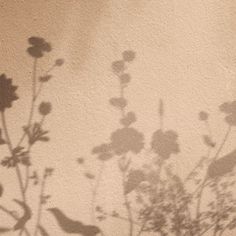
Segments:
[[[124,127],[118,129],[111,135],[111,147],[117,155],[129,151],[137,154],[144,147],[143,134],[134,128]]]

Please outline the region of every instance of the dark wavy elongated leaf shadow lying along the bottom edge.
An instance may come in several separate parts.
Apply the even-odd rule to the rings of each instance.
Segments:
[[[85,225],[80,221],[75,221],[68,218],[60,209],[48,209],[56,218],[61,229],[69,234],[80,234],[82,236],[96,236],[101,233],[101,230],[94,225]]]

